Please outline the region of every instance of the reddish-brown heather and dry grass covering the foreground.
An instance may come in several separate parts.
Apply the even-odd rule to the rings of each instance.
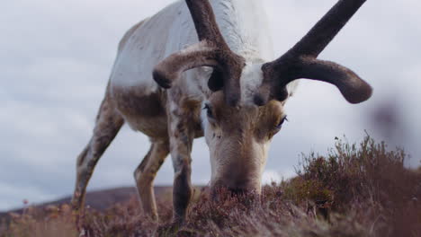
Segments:
[[[304,156],[298,176],[264,187],[260,202],[232,197],[210,201],[197,194],[182,228],[171,221],[171,198],[161,197],[161,221],[139,211],[136,198],[105,212],[88,209],[85,236],[421,236],[421,169],[404,167],[403,151],[388,151],[366,137],[360,145],[338,140],[327,157]],[[0,225],[5,236],[79,236],[68,206],[28,209]]]

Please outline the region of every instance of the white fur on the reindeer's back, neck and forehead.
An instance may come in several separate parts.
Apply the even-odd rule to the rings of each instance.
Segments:
[[[219,29],[229,48],[246,57],[241,78],[242,101],[262,81],[260,62],[273,59],[271,36],[260,0],[210,0]],[[192,16],[184,1],[177,1],[142,23],[121,48],[112,70],[112,86],[139,87],[146,94],[160,90],[152,70],[162,59],[198,42]],[[199,45],[200,46],[200,45]],[[192,48],[184,49],[191,50]],[[255,65],[255,62],[259,62]],[[186,92],[209,94],[210,68],[194,69],[182,79]],[[207,96],[205,96],[207,97]]]

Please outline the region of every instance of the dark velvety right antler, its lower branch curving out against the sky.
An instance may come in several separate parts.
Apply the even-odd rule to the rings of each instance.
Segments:
[[[339,0],[293,48],[264,64],[264,82],[255,94],[255,103],[264,105],[271,99],[284,101],[288,97],[286,85],[300,78],[335,84],[351,103],[368,100],[372,87],[353,71],[316,59],[365,1]]]

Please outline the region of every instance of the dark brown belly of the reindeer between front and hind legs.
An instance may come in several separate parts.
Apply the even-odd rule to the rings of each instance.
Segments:
[[[152,139],[166,138],[166,92],[147,93],[142,87],[112,86],[117,110],[129,126]]]

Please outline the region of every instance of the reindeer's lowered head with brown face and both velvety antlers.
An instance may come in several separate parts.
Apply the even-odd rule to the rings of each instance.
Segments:
[[[208,82],[212,93],[203,116],[213,188],[260,192],[268,146],[286,119],[282,109],[289,96],[288,83],[300,78],[332,83],[351,103],[371,97],[371,86],[353,71],[317,59],[365,0],[340,0],[302,40],[273,62],[237,55],[223,39],[208,0],[186,2],[200,42],[158,64],[154,79],[170,88],[186,70],[213,67]]]

